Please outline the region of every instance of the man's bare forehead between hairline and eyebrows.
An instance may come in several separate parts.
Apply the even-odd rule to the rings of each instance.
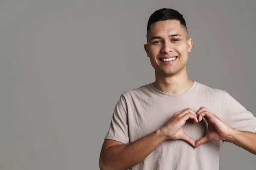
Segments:
[[[178,33],[185,37],[185,29],[180,25],[178,20],[157,21],[151,24],[149,38],[152,36],[168,36],[172,33]]]

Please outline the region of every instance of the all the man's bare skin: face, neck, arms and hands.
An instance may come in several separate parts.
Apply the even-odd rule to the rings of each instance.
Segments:
[[[172,34],[180,36],[169,37]],[[151,40],[152,37],[157,37]],[[187,38],[186,29],[177,20],[166,20],[153,23],[148,34],[145,52],[155,69],[155,88],[169,94],[187,91],[194,83],[188,78],[186,62],[188,52],[192,49],[192,38]],[[178,58],[172,65],[161,64],[158,57],[176,55]],[[206,135],[194,141],[183,131],[186,120],[200,122],[206,119],[208,129]],[[191,108],[178,111],[160,129],[128,144],[105,139],[99,158],[101,170],[127,170],[143,161],[165,140],[181,139],[197,148],[208,141],[224,140],[256,154],[256,133],[240,131],[229,127],[209,109],[202,106],[195,113]]]

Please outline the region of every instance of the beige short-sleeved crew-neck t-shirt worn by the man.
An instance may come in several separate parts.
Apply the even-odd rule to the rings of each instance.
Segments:
[[[167,94],[152,83],[121,94],[105,139],[131,143],[163,127],[174,113],[204,106],[230,127],[256,132],[256,118],[226,91],[194,82],[180,94]],[[203,137],[207,122],[187,121],[184,132],[195,141]],[[222,141],[207,142],[197,148],[183,140],[166,140],[130,170],[218,170]]]

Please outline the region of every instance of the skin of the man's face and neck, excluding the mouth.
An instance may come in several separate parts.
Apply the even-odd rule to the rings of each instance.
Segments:
[[[180,36],[169,37],[172,34]],[[159,37],[152,40],[152,37]],[[186,63],[188,52],[192,50],[192,38],[187,38],[187,31],[178,20],[158,21],[151,24],[148,44],[144,45],[151,65],[155,69],[153,85],[160,91],[179,94],[188,90],[194,83],[188,78]],[[159,57],[178,56],[172,65],[163,65]]]

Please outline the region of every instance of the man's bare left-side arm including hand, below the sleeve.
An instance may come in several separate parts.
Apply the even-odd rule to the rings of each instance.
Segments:
[[[99,158],[101,170],[127,170],[145,159],[153,150],[167,139],[182,139],[192,146],[195,141],[187,136],[182,126],[187,119],[198,122],[192,109],[179,111],[159,130],[156,130],[134,142],[122,144],[113,140],[105,140]]]

